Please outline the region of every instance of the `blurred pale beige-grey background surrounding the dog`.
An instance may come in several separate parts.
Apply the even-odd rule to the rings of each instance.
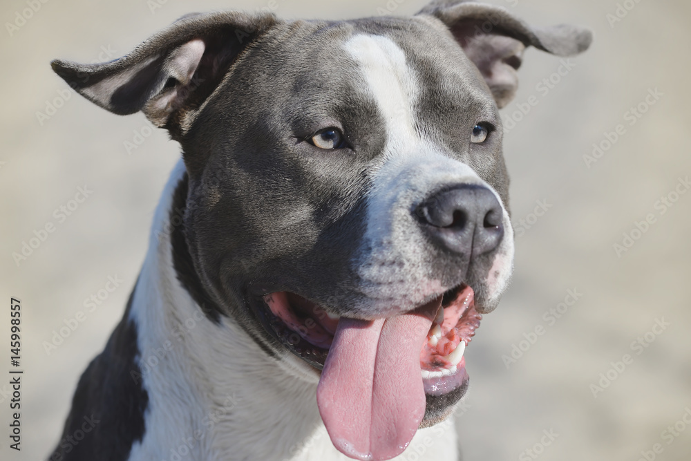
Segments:
[[[425,3],[43,1],[0,6],[2,460],[44,459],[57,443],[79,375],[122,316],[179,156],[143,115],[75,95],[50,60],[120,57],[191,11],[341,19]],[[463,459],[689,460],[691,3],[493,3],[536,26],[587,25],[595,40],[568,61],[530,48],[502,111],[515,276],[466,352]],[[109,277],[122,281],[112,292]],[[23,312],[21,452],[8,447],[10,297]]]

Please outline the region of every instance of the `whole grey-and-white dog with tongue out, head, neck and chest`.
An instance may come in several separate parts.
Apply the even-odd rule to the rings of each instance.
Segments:
[[[55,60],[182,158],[50,460],[456,460],[464,350],[513,270],[498,109],[527,46],[590,42],[433,1],[192,14],[120,59]]]

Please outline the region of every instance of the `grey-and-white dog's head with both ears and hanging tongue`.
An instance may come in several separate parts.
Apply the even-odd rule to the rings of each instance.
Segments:
[[[377,460],[451,413],[463,350],[507,287],[498,107],[524,48],[590,39],[458,1],[356,21],[216,12],[122,59],[53,68],[180,142],[178,279],[284,368],[321,374],[334,444]]]

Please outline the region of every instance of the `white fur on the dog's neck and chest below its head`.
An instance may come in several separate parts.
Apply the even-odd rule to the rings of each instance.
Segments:
[[[183,173],[180,161],[155,213],[130,313],[149,405],[129,460],[348,460],[319,417],[316,374],[293,355],[269,358],[232,319],[209,321],[176,279],[164,229]],[[445,422],[419,431],[395,459],[456,460],[455,439]],[[413,450],[424,455],[410,458]]]

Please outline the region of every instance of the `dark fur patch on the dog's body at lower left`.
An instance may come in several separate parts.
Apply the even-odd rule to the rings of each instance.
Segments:
[[[149,395],[135,361],[137,327],[128,318],[133,295],[134,290],[106,348],[79,379],[72,410],[49,461],[125,461],[134,442],[144,437]]]

